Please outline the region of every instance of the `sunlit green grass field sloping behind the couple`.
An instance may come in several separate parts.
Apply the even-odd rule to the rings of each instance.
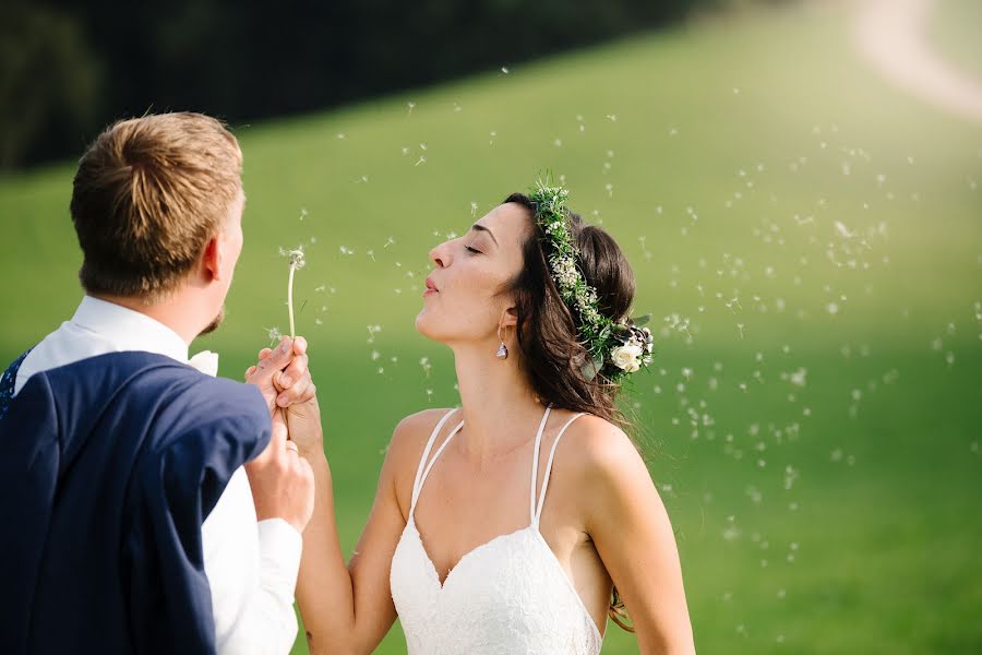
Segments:
[[[932,38],[978,60],[982,40],[943,24]],[[551,169],[619,239],[660,331],[624,402],[699,651],[982,652],[982,129],[886,86],[841,9],[235,128],[246,248],[200,347],[241,374],[286,329],[277,249],[302,242],[298,330],[348,549],[393,427],[457,402],[450,352],[412,324],[429,248]],[[0,180],[4,360],[79,301],[72,172]],[[405,652],[398,628],[378,652]],[[636,645],[611,623],[603,652]]]

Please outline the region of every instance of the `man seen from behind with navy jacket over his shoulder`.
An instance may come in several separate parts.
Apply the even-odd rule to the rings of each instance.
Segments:
[[[313,396],[307,344],[284,338],[250,384],[188,359],[242,248],[241,159],[220,122],[165,114],[79,164],[85,297],[0,380],[2,653],[295,641],[313,475],[284,413]]]

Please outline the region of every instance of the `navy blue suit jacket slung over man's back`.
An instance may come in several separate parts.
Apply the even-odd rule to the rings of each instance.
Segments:
[[[163,355],[36,373],[0,419],[0,652],[214,653],[201,525],[270,440],[252,385]]]

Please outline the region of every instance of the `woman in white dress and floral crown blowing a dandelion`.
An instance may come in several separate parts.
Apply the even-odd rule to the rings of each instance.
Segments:
[[[462,406],[396,426],[347,564],[316,400],[289,415],[316,478],[297,584],[311,653],[371,653],[397,616],[415,655],[594,655],[608,617],[642,653],[695,652],[672,528],[614,403],[651,335],[626,318],[621,250],[565,199],[540,183],[430,252],[416,327],[453,350]]]

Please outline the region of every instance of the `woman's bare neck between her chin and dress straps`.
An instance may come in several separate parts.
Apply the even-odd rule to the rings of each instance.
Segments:
[[[476,462],[510,451],[535,436],[544,406],[539,403],[517,354],[501,360],[487,348],[455,347],[460,391],[464,452]]]

